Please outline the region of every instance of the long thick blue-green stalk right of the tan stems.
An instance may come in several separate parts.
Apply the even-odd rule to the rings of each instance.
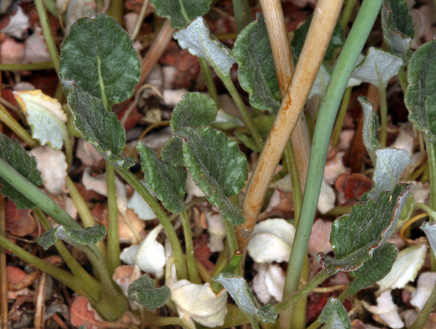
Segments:
[[[292,278],[288,293],[297,290],[301,268],[306,254],[307,242],[312,230],[319,199],[324,166],[327,158],[329,139],[348,79],[365,45],[369,32],[378,15],[382,0],[364,0],[344,47],[333,70],[327,90],[322,99],[318,122],[315,127],[311,160],[301,206],[300,223],[297,227],[289,264],[292,264]]]

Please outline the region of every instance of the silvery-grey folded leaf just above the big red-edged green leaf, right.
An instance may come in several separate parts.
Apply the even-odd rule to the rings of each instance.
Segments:
[[[410,154],[403,149],[385,147],[375,150],[372,187],[360,201],[377,200],[381,191],[393,190],[411,161]]]

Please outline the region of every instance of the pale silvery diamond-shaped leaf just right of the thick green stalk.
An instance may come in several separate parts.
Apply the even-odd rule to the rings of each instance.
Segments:
[[[351,77],[373,84],[378,89],[386,89],[388,81],[397,75],[402,65],[403,60],[398,56],[371,47],[362,63],[354,68]]]

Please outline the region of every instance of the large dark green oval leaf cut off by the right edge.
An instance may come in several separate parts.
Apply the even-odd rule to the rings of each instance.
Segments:
[[[404,101],[409,121],[431,139],[436,136],[436,40],[420,46],[407,65],[408,86]]]

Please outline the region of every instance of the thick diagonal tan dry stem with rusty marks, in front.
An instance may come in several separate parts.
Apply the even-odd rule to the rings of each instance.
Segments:
[[[244,252],[254,229],[271,177],[277,168],[289,136],[303,110],[304,103],[315,81],[325,50],[338,20],[342,0],[320,0],[315,8],[312,23],[301,50],[291,82],[281,102],[277,117],[265,146],[248,182],[242,203],[246,222],[236,230],[239,249]]]

